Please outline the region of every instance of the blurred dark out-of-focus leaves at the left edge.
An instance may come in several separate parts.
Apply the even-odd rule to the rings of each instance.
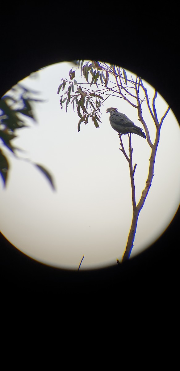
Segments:
[[[24,116],[36,122],[32,102],[42,102],[42,100],[31,97],[32,93],[34,95],[36,92],[30,91],[18,84],[0,99],[0,175],[4,186],[6,185],[9,173],[9,162],[6,154],[3,152],[3,147],[11,151],[14,156],[17,156],[17,148],[14,147],[12,141],[17,137],[17,129],[27,127],[27,124],[24,122]],[[41,165],[34,165],[42,171],[54,189],[53,179],[49,172]]]

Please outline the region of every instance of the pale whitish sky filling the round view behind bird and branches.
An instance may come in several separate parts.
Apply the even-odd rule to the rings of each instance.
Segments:
[[[137,126],[137,111],[123,99],[110,97],[101,108],[100,128],[89,120],[77,131],[79,116],[69,104],[61,110],[58,86],[69,78],[71,63],[58,63],[40,70],[21,82],[40,91],[36,103],[38,123],[26,120],[30,128],[19,130],[13,144],[25,152],[19,157],[47,168],[54,177],[53,191],[46,177],[30,162],[9,154],[11,164],[7,187],[0,183],[0,229],[23,253],[40,262],[67,269],[93,269],[121,260],[132,218],[129,165],[119,150],[119,137],[109,123],[108,107],[117,107]],[[74,66],[73,66],[74,67]],[[79,78],[76,80],[80,82]],[[84,83],[84,78],[81,78]],[[67,85],[68,87],[69,85]],[[149,97],[154,89],[148,87]],[[93,88],[93,86],[92,86]],[[144,102],[146,106],[146,102]],[[160,119],[167,104],[156,100]],[[143,111],[150,135],[154,124]],[[145,187],[150,147],[132,134],[136,202]],[[153,139],[151,139],[153,141]],[[128,137],[123,136],[124,143]],[[131,257],[153,243],[173,219],[180,202],[180,128],[170,110],[164,119],[157,150],[153,182],[140,212]],[[128,147],[126,147],[128,148]],[[7,153],[7,152],[6,152]],[[128,153],[128,151],[127,151]]]

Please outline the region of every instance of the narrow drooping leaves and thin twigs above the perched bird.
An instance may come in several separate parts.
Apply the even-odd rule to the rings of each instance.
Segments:
[[[112,95],[126,99],[127,102],[136,108],[138,104],[141,105],[144,101],[143,89],[141,89],[143,98],[140,98],[139,94],[140,87],[142,88],[141,79],[137,77],[136,81],[132,79],[128,80],[124,68],[107,65],[104,62],[98,62],[96,60],[85,63],[84,60],[79,60],[74,64],[77,67],[70,69],[70,79],[61,79],[62,82],[59,85],[57,93],[60,94],[60,91],[63,91],[60,99],[61,109],[65,105],[67,112],[70,103],[73,105],[74,111],[76,106],[77,114],[80,118],[78,131],[80,130],[81,123],[84,122],[84,124],[87,124],[89,118],[91,118],[95,127],[99,128],[99,122],[101,122],[101,105]],[[77,83],[75,79],[77,70],[80,70],[81,76],[84,76],[86,83],[83,83],[83,86],[85,85],[86,88],[82,88],[82,83]],[[139,102],[137,102],[136,91],[138,91]],[[129,101],[128,96],[131,98],[131,101]]]

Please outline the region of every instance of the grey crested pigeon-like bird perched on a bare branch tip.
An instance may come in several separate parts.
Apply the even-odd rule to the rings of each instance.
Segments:
[[[136,126],[133,121],[131,121],[126,115],[117,111],[117,108],[110,107],[107,108],[106,113],[110,112],[109,121],[111,127],[116,130],[119,135],[133,133],[140,135],[146,139],[146,135],[139,126]]]

